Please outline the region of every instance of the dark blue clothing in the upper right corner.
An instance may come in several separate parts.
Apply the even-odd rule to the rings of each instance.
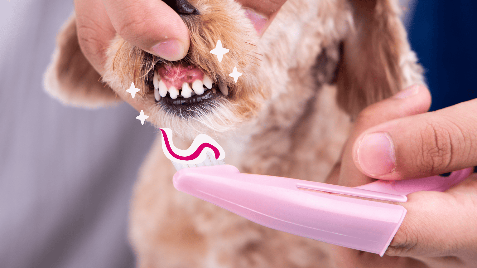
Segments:
[[[425,69],[431,111],[477,98],[477,2],[417,0],[409,41]]]

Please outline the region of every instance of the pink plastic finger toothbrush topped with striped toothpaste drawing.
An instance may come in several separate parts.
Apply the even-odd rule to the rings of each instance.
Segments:
[[[178,150],[168,139],[172,131],[161,132],[163,150],[178,170],[173,178],[177,190],[260,225],[380,256],[403,222],[406,209],[353,197],[406,202],[409,193],[445,191],[472,172],[467,168],[447,177],[376,181],[351,188],[240,173],[225,165],[224,150],[209,136],[200,134],[189,149]]]

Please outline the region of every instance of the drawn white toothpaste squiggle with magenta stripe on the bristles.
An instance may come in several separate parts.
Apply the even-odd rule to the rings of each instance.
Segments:
[[[180,150],[172,143],[172,130],[167,128],[161,128],[160,130],[162,132],[162,150],[173,163],[185,165],[202,163],[206,161],[207,152],[213,160],[218,161],[225,158],[225,151],[222,147],[206,134],[197,135],[187,150]]]

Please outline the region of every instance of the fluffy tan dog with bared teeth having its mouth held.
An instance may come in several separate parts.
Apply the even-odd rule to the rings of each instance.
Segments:
[[[288,0],[262,37],[233,0],[189,3],[197,12],[181,15],[191,40],[183,60],[168,62],[116,36],[103,74],[81,53],[73,14],[45,74],[48,92],[99,107],[131,100],[125,90],[134,82],[149,121],[172,129],[178,148],[206,133],[241,172],[323,181],[360,110],[422,83],[397,1]],[[221,63],[209,52],[218,40],[230,50]],[[234,66],[243,73],[237,83],[228,76]],[[177,86],[174,72],[206,85],[180,87],[181,78]],[[330,267],[326,244],[180,193],[174,173],[159,136],[131,205],[138,267]]]

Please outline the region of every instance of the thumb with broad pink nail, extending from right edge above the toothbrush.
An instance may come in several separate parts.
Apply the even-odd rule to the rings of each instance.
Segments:
[[[422,178],[477,165],[477,99],[394,119],[364,131],[353,160],[384,180]]]

